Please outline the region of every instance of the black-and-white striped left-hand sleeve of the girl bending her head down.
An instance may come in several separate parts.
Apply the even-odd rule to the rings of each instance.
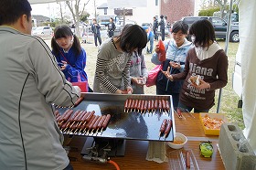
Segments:
[[[102,84],[107,90],[110,91],[110,93],[115,93],[118,88],[115,87],[110,80],[107,79],[104,70],[106,69],[106,60],[97,58],[96,62],[96,71],[95,71],[95,77],[97,80],[100,81],[100,84]]]

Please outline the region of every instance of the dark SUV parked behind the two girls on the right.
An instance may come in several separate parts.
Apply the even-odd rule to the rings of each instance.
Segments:
[[[199,19],[208,19],[215,29],[215,36],[217,38],[226,38],[228,24],[224,19],[221,19],[220,17],[186,16],[186,17],[183,17],[181,20],[184,21],[185,23],[187,23],[188,27],[191,27],[191,25]],[[239,42],[240,41],[239,25],[231,25],[229,41],[230,42]]]

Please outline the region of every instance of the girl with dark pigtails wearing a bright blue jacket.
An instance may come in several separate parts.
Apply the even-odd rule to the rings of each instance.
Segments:
[[[72,34],[68,26],[62,25],[54,29],[51,48],[66,80],[69,80],[69,82],[88,81],[87,74],[84,71],[86,52],[80,47],[79,38]]]

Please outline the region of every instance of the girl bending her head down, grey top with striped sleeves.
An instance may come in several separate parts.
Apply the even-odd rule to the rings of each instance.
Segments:
[[[123,27],[118,37],[105,40],[98,52],[93,91],[103,93],[133,93],[130,65],[133,52],[142,55],[147,36],[138,25]]]

